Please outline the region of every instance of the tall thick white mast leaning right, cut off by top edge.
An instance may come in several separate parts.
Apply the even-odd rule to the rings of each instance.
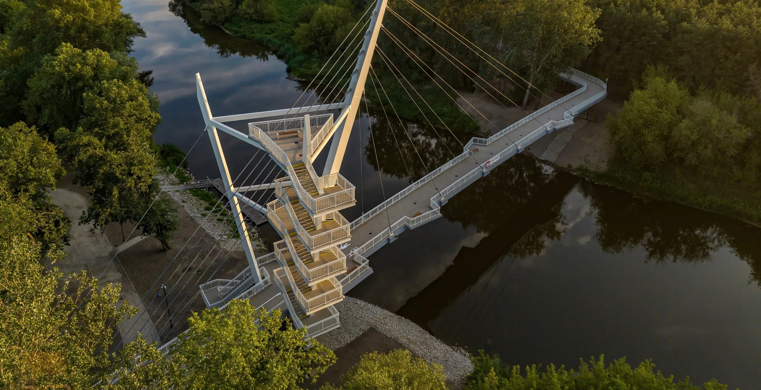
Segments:
[[[346,145],[349,143],[349,136],[352,133],[355,116],[359,111],[359,102],[362,98],[362,92],[365,91],[365,81],[368,79],[370,62],[372,61],[373,53],[375,52],[375,43],[377,42],[378,34],[380,34],[380,24],[383,23],[383,16],[386,13],[387,2],[388,0],[377,0],[370,26],[365,32],[365,43],[362,44],[362,48],[359,50],[357,66],[355,66],[355,69],[352,72],[352,80],[349,83],[349,90],[346,91],[346,98],[344,101],[346,105],[343,107],[341,114],[339,115],[339,120],[344,115],[345,119],[342,123],[336,123],[336,126],[339,126],[339,128],[336,130],[336,133],[333,136],[333,141],[330,144],[330,152],[328,153],[328,159],[325,162],[323,175],[336,174],[341,170],[341,162],[343,161],[343,155],[346,152]],[[345,112],[346,110],[349,110],[348,114]]]

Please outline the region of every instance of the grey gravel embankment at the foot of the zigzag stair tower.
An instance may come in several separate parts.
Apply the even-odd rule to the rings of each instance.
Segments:
[[[372,327],[398,341],[428,363],[444,366],[448,382],[463,383],[473,369],[473,363],[463,353],[444,344],[414,322],[384,308],[349,296],[337,304],[336,308],[340,313],[341,327],[317,337],[320,343],[331,350],[349,344]]]

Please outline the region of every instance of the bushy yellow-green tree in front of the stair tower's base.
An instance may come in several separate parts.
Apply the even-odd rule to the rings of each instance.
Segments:
[[[117,372],[120,388],[256,388],[286,390],[311,382],[336,362],[336,355],[306,329],[294,329],[280,309],[257,311],[236,299],[224,310],[205,309],[188,318],[188,331],[170,347],[171,359],[162,359],[155,344],[138,340],[128,353],[119,354],[117,366],[127,366],[140,353],[151,360],[136,371]]]

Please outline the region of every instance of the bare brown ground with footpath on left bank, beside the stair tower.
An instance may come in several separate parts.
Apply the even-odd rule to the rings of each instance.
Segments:
[[[100,279],[101,283],[121,283],[123,299],[127,299],[131,305],[137,305],[145,297],[142,306],[147,308],[158,330],[159,339],[155,341],[163,343],[171,340],[187,328],[186,318],[190,312],[206,308],[199,294],[200,284],[213,279],[232,279],[247,267],[243,251],[228,252],[215,247],[215,239],[200,229],[179,203],[175,203],[175,206],[180,227],[169,241],[172,248],[170,251],[164,251],[158,240],[149,237],[122,251],[110,262],[112,250],[130,238],[137,237],[139,231],[132,232],[134,225],[129,223],[123,226],[111,223],[104,233],[91,233],[91,225],[77,223],[82,210],[87,208],[87,189],[72,184],[72,176],[68,175],[59,183],[59,191],[56,192],[58,194],[53,194],[56,204],[61,202],[59,206],[72,219],[72,246],[67,248],[68,256],[65,260],[56,266],[65,271],[81,272],[86,269],[92,276],[98,277],[108,265]],[[126,240],[123,239],[122,231]],[[129,235],[130,232],[132,235]],[[272,246],[269,242],[266,245]],[[167,300],[164,300],[163,289],[161,293],[158,292],[162,285],[167,286]],[[141,312],[145,312],[145,309]],[[129,333],[134,338],[140,331],[149,341],[157,338],[156,331],[149,331],[150,324],[144,326],[147,319],[145,314],[141,318],[134,318],[132,322],[136,325],[130,323],[123,327],[123,337],[131,340],[125,334]]]

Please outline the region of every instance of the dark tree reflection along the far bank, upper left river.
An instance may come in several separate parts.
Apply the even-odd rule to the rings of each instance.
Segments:
[[[222,58],[238,55],[241,57],[256,57],[262,61],[269,59],[269,49],[243,37],[235,37],[225,33],[218,26],[205,24],[201,15],[183,0],[170,0],[169,11],[183,18],[193,34],[203,38],[206,46],[217,50]]]

